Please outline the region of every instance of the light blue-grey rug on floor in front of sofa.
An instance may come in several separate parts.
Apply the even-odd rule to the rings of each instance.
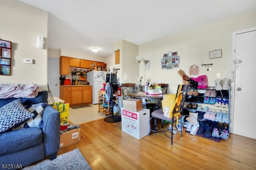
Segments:
[[[91,170],[90,165],[78,148],[58,155],[54,160],[44,160],[36,165],[27,166],[24,170]]]

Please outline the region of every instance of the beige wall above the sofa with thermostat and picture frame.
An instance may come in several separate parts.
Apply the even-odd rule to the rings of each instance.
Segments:
[[[36,83],[47,90],[47,12],[18,0],[1,0],[0,12],[0,39],[12,42],[11,75],[0,75],[0,83]],[[37,35],[44,37],[44,49],[36,47]]]

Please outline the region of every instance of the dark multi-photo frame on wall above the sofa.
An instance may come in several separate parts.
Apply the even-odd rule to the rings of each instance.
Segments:
[[[0,75],[11,75],[12,42],[0,40]]]

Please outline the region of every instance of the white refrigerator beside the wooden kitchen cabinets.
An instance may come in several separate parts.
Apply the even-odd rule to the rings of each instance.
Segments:
[[[92,85],[92,104],[99,103],[99,91],[106,83],[107,71],[90,71],[87,73],[87,81]]]

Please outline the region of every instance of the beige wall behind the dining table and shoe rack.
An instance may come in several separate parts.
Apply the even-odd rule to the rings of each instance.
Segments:
[[[169,83],[176,90],[176,85],[182,83],[178,70],[189,75],[189,67],[196,64],[199,75],[207,75],[209,85],[215,86],[216,73],[221,73],[221,79],[231,78],[232,32],[252,27],[256,27],[256,10],[139,45],[140,57],[150,60],[150,70],[141,64],[140,74],[144,81]],[[222,58],[209,59],[209,51],[215,49],[222,49]],[[161,59],[169,51],[178,51],[179,68],[162,69]],[[213,63],[212,70],[206,71],[202,63]]]

